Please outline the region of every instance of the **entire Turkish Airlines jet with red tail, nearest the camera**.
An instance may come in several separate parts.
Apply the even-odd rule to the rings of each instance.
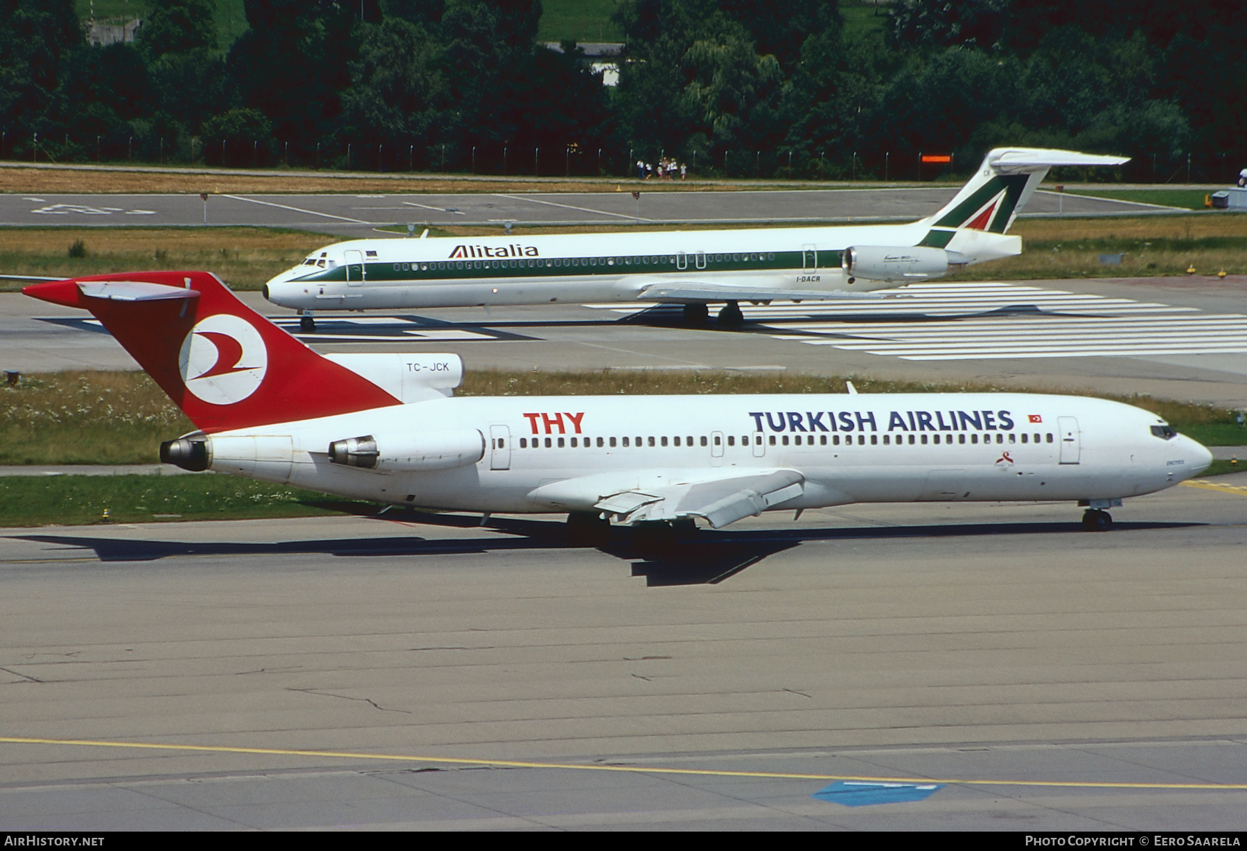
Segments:
[[[1117,402],[1020,393],[453,398],[453,354],[317,354],[206,272],[39,283],[94,313],[200,430],[162,460],[395,505],[567,513],[661,540],[766,510],[1069,500],[1104,509],[1211,454]]]

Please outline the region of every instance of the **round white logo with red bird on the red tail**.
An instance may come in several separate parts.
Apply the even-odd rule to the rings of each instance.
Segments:
[[[259,389],[268,348],[253,324],[217,313],[201,319],[182,341],[178,369],[186,389],[208,404],[234,404]]]

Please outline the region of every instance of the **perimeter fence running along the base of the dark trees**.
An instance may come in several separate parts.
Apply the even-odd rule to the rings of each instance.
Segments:
[[[1130,156],[1119,168],[1056,170],[1052,178],[1126,183],[1226,183],[1237,181],[1247,166],[1247,152],[1177,156],[1112,151]],[[658,165],[675,163],[670,175],[680,180],[680,166],[688,177],[733,180],[827,180],[827,181],[933,181],[964,177],[983,152],[863,151],[832,158],[826,151],[781,150],[691,150],[668,153],[658,147],[582,146],[579,142],[552,146],[511,145],[506,141],[478,143],[416,143],[410,141],[342,141],[292,145],[272,137],[201,139],[147,134],[132,136],[74,134],[12,134],[0,130],[0,160],[31,163],[108,165],[201,165],[229,168],[284,168],[328,172],[459,173],[499,177],[611,177],[637,181],[657,180]],[[666,175],[665,175],[666,176]]]

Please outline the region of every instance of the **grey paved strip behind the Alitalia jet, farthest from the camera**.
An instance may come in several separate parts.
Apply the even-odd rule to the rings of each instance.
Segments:
[[[0,195],[0,227],[267,226],[339,237],[390,225],[672,225],[910,221],[960,186],[464,195]],[[626,191],[622,191],[626,190]],[[632,191],[640,191],[635,200]],[[1156,205],[1040,191],[1024,216],[1185,213]]]

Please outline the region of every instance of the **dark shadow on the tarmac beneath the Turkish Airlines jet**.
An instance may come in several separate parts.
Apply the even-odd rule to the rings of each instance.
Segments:
[[[480,525],[479,517],[463,514],[390,513],[387,518],[413,525],[479,528],[471,538],[421,538],[413,534],[378,535],[335,539],[286,540],[278,543],[185,542],[142,538],[100,538],[92,535],[10,535],[64,547],[66,558],[81,550],[94,550],[108,562],[153,562],[176,557],[282,557],[301,554],[359,557],[428,557],[524,552],[534,549],[575,549],[566,527],[555,520],[495,518]],[[1202,523],[1116,523],[1114,532],[1124,534],[1148,529],[1181,529]],[[410,528],[410,527],[409,527]],[[499,534],[501,533],[501,534]],[[610,540],[596,547],[599,552],[631,562],[632,575],[645,576],[646,585],[706,585],[729,579],[769,555],[799,547],[807,542],[889,540],[900,538],[976,538],[988,535],[1087,535],[1081,523],[976,523],[958,525],[854,527],[796,529],[702,529],[692,538],[676,540],[657,549],[638,550],[626,527],[614,527]],[[505,535],[505,537],[504,537]],[[55,554],[55,552],[52,553]],[[829,562],[834,565],[834,559]]]

